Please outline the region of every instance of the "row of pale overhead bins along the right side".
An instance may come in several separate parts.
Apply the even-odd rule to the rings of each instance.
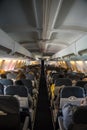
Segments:
[[[80,52],[82,51],[84,51],[84,53],[87,53],[87,51],[85,51],[86,49],[87,49],[87,34],[84,35],[82,38],[80,38],[78,41],[75,41],[67,48],[61,50],[60,52],[57,52],[55,55],[52,56],[52,58],[68,57],[69,55],[79,56]]]

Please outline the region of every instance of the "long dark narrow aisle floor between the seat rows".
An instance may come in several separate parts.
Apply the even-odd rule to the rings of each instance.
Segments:
[[[44,63],[42,61],[41,67],[41,77],[39,83],[39,95],[38,95],[38,103],[36,109],[36,118],[34,123],[33,130],[54,130],[51,111],[50,111],[50,103],[48,100],[46,79],[44,75]]]

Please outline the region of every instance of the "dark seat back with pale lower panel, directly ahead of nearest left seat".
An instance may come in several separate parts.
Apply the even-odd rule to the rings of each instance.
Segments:
[[[21,122],[24,122],[26,116],[28,116],[31,125],[27,88],[21,85],[10,85],[6,88],[6,95],[11,95],[19,101]]]

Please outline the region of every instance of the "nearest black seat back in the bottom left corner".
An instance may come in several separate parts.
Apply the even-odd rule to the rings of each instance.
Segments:
[[[0,130],[19,130],[19,102],[12,96],[0,96]]]

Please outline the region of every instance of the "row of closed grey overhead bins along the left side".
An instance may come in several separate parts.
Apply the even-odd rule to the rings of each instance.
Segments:
[[[3,30],[0,29],[0,45],[12,51],[18,52],[24,56],[33,57],[32,54],[22,47],[19,43],[10,38]]]

